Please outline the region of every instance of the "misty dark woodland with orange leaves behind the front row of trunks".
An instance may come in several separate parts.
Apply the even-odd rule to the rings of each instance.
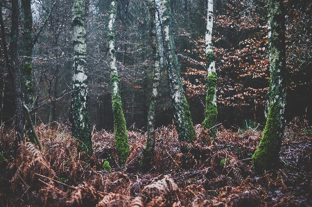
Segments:
[[[36,124],[68,123],[73,63],[71,1],[33,1],[33,33],[51,12],[33,51]],[[216,1],[213,43],[218,73],[218,123],[238,130],[246,123],[264,127],[268,90],[266,1]],[[53,5],[53,6],[52,6]],[[194,124],[205,111],[205,1],[171,1],[173,31]],[[286,122],[295,116],[312,119],[312,28],[309,1],[285,1],[287,96]],[[106,33],[109,2],[86,1],[89,115],[96,130],[113,128]],[[6,31],[10,10],[3,7]],[[22,17],[22,15],[21,15]],[[21,18],[20,17],[20,18]],[[21,19],[22,20],[22,19]],[[21,24],[22,27],[22,24]],[[153,80],[152,52],[145,1],[120,0],[116,19],[116,57],[127,127],[146,130]],[[22,28],[21,28],[22,33]],[[8,39],[8,38],[7,38]],[[22,41],[22,38],[19,38]],[[0,56],[1,124],[12,126],[14,91]],[[22,61],[21,48],[18,51]],[[166,71],[162,71],[156,127],[171,124],[173,109]],[[309,123],[311,124],[311,123]]]

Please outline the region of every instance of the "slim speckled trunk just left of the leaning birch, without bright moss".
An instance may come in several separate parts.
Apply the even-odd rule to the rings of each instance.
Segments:
[[[146,148],[142,154],[142,170],[145,172],[153,168],[154,165],[154,149],[155,149],[155,109],[158,99],[158,88],[160,79],[160,55],[156,35],[156,21],[155,21],[155,3],[153,0],[148,0],[148,10],[150,13],[150,38],[152,40],[151,47],[153,50],[153,91],[150,98],[150,109],[148,110],[148,124],[147,124],[147,139]]]

